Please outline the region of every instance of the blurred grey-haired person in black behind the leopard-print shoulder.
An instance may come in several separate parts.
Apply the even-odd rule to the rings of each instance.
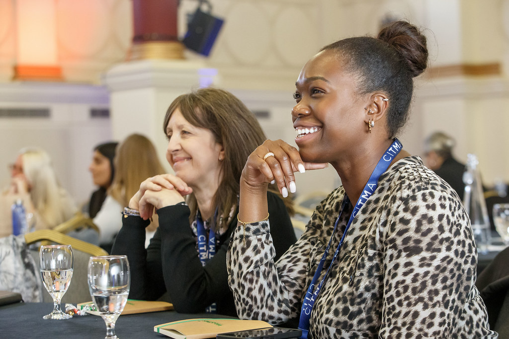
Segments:
[[[434,132],[424,142],[425,165],[444,179],[463,201],[465,183],[463,172],[465,164],[460,163],[453,157],[453,148],[456,141],[443,132]]]

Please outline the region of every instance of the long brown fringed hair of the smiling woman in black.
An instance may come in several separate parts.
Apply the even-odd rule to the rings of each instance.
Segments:
[[[230,212],[238,203],[242,169],[250,153],[265,141],[265,134],[254,114],[237,97],[223,89],[201,88],[176,98],[164,116],[165,135],[169,118],[177,108],[191,125],[211,131],[215,141],[224,148],[222,180],[214,194],[213,204],[218,209],[218,220],[215,221],[218,228],[228,228]],[[187,203],[192,221],[197,211],[196,198],[189,195]],[[292,211],[291,207],[289,210]],[[222,223],[221,217],[224,217]]]

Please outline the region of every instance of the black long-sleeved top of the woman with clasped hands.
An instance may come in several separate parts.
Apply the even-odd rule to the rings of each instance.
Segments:
[[[268,203],[271,234],[278,259],[296,238],[282,200],[269,193]],[[154,300],[167,291],[175,310],[180,313],[204,312],[213,302],[218,302],[219,311],[219,303],[228,303],[230,299],[233,305],[226,256],[231,234],[237,225],[237,215],[227,233],[221,236],[221,245],[214,257],[202,266],[189,225],[189,213],[189,207],[185,205],[158,209],[159,227],[147,250],[144,245],[145,227],[149,222],[138,217],[123,218],[112,254],[128,256],[130,298]]]

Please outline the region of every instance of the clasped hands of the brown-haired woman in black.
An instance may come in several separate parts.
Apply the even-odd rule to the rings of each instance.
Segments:
[[[150,203],[149,205],[151,205],[151,207],[149,207],[148,205],[146,205],[146,202],[144,202],[145,204],[143,206],[144,213],[142,214],[142,207],[140,207],[140,201],[143,199],[147,191],[159,192],[162,191],[163,189],[175,191],[181,198],[181,200],[179,201],[184,201],[184,198],[182,197],[192,193],[192,189],[189,186],[187,186],[187,183],[185,183],[181,178],[169,173],[156,175],[146,179],[139,185],[138,192],[136,192],[136,194],[134,194],[131,200],[129,201],[129,208],[139,210],[140,216],[144,219],[150,218],[152,216],[154,207],[156,208],[160,207]],[[150,211],[147,208],[150,209]],[[147,213],[150,212],[150,214],[147,215],[145,213],[145,210],[147,210]]]

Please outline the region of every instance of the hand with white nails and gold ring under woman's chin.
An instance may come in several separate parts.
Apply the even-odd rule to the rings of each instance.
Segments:
[[[283,197],[294,193],[294,172],[304,173],[306,169],[321,169],[327,164],[315,164],[302,161],[297,148],[282,140],[265,140],[255,149],[242,170],[241,186],[251,193],[265,193],[267,183],[275,181]]]

